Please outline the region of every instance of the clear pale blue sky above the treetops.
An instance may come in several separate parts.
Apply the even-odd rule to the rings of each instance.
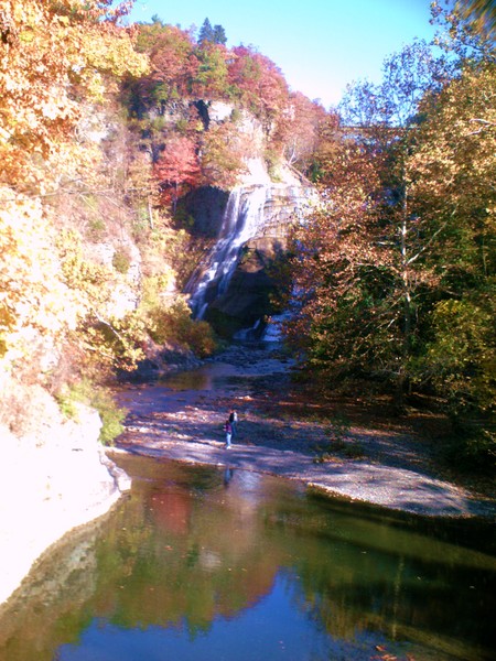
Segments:
[[[381,65],[414,37],[430,40],[430,0],[136,0],[132,21],[224,26],[227,45],[256,46],[292,89],[328,108],[353,80],[379,82]]]

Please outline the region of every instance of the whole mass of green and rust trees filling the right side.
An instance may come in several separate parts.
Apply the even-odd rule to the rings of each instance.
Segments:
[[[323,204],[295,230],[288,334],[324,388],[436,392],[464,456],[494,462],[495,62],[452,20],[462,58],[432,78],[390,58],[381,86],[348,97],[315,166]]]

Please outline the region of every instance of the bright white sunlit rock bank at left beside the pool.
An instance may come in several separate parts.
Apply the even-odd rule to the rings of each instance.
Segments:
[[[48,402],[47,402],[48,404]],[[130,488],[98,442],[98,413],[79,407],[63,420],[56,404],[22,437],[0,427],[0,603],[34,561],[67,531],[106,513]]]

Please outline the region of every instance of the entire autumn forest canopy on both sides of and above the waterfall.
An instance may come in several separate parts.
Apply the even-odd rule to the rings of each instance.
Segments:
[[[181,202],[257,150],[320,192],[285,264],[302,372],[399,410],[434,397],[494,462],[492,4],[433,2],[435,45],[332,111],[222,25],[126,26],[129,4],[0,2],[0,422],[21,432],[40,388],[91,399],[151,346],[215,350],[176,293],[206,247]]]

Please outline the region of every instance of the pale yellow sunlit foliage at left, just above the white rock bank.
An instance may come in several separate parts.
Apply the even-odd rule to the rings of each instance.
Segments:
[[[71,332],[98,362],[132,366],[142,357],[138,315],[106,318],[115,273],[85,258],[76,232],[55,240],[39,201],[0,189],[0,358],[53,351]]]

